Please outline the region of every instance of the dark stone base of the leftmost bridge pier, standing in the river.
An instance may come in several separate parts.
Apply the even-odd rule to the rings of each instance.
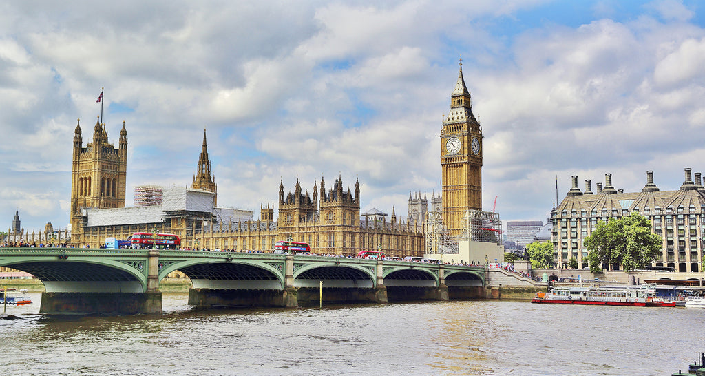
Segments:
[[[161,291],[146,293],[42,293],[40,313],[54,315],[161,314]]]

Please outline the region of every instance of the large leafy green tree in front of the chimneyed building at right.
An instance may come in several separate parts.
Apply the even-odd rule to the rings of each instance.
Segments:
[[[607,224],[597,222],[592,234],[585,238],[584,246],[590,250],[590,267],[601,262],[603,267],[621,264],[625,270],[644,267],[661,255],[661,236],[651,234],[651,224],[646,217],[632,212],[629,217],[611,218]]]

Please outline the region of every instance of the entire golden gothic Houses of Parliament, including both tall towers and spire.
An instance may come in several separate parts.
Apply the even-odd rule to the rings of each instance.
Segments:
[[[451,234],[460,231],[460,213],[481,208],[482,131],[472,115],[462,61],[441,130],[442,192],[431,197],[431,211],[442,212]],[[217,206],[204,129],[202,150],[190,188],[164,188],[159,200],[125,207],[127,172],[125,123],[118,147],[109,143],[100,119],[92,139],[82,145],[80,121],[73,138],[71,240],[76,247],[97,248],[106,237],[128,238],[135,232],[176,234],[182,248],[267,251],[276,241],[309,243],[313,253],[356,255],[379,249],[392,256],[422,256],[426,251],[425,195],[409,196],[406,221],[378,210],[361,213],[360,182],[353,189],[341,175],[323,177],[309,189],[295,181],[293,190],[278,186],[278,202],[260,205],[260,218],[248,210]],[[276,188],[273,187],[273,193]]]

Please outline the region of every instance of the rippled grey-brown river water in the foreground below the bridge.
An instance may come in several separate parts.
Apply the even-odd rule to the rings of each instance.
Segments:
[[[0,320],[0,375],[670,375],[705,310],[450,301]]]

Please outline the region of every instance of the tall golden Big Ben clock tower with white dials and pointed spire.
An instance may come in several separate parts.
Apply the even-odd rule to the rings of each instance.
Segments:
[[[451,236],[462,230],[464,210],[482,210],[482,131],[472,115],[470,92],[462,78],[450,95],[450,112],[441,129],[443,226]]]

